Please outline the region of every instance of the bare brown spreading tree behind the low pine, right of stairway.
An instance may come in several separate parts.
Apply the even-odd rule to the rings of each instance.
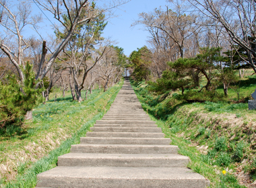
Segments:
[[[179,47],[179,55],[184,57],[185,40],[190,38],[200,26],[195,26],[197,17],[188,13],[188,5],[186,1],[170,1],[171,10],[166,5],[166,11],[163,9],[155,9],[153,13],[140,13],[139,20],[133,23],[143,24],[149,28],[158,28],[165,32],[169,38],[173,40]]]

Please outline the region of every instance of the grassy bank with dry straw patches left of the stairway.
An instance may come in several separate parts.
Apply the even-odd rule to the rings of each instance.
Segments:
[[[0,187],[35,187],[36,175],[56,167],[57,157],[79,143],[113,103],[123,82],[103,93],[95,89],[77,103],[71,95],[50,100],[33,110],[23,128],[0,130]],[[60,96],[61,93],[58,93]]]

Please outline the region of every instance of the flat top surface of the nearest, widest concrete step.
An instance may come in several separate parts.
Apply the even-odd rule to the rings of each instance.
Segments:
[[[40,177],[75,177],[105,179],[201,179],[202,175],[183,167],[55,167]]]

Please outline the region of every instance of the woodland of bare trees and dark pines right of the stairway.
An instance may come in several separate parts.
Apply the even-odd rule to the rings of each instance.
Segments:
[[[251,93],[241,99],[239,87],[245,68],[256,73],[255,10],[256,1],[169,0],[140,13],[132,26],[142,25],[149,38],[131,54],[133,79],[165,97],[179,89],[187,101],[221,100],[232,88],[246,102]]]

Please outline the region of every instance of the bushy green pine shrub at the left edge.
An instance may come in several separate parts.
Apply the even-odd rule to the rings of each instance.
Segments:
[[[34,89],[36,80],[28,62],[24,73],[24,83],[15,75],[7,76],[8,84],[0,81],[0,128],[10,124],[20,125],[26,112],[42,99],[42,89]]]

